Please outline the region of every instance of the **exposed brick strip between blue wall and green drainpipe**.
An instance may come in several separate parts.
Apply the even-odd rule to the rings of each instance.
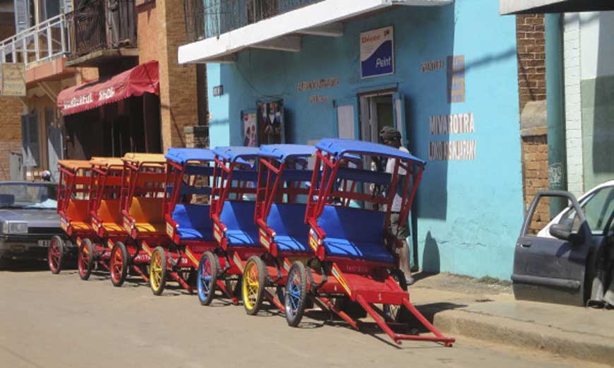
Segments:
[[[542,15],[516,16],[519,109],[527,102],[546,99],[546,40]],[[545,104],[544,104],[545,109]],[[524,135],[522,177],[525,208],[538,190],[548,189],[548,139],[543,130]],[[531,222],[531,231],[543,228],[550,219],[548,202],[542,201]]]

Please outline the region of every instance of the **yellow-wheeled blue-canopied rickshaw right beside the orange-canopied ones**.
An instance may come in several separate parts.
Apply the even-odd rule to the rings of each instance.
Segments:
[[[167,274],[192,292],[192,276],[198,269],[200,257],[217,247],[209,207],[215,155],[210,149],[169,148],[165,157],[164,219],[172,243],[167,253],[160,253],[158,257],[154,252],[152,257],[150,286],[154,295],[164,290]],[[185,274],[189,275],[188,279],[184,278]],[[222,281],[217,281],[217,287],[226,291]]]

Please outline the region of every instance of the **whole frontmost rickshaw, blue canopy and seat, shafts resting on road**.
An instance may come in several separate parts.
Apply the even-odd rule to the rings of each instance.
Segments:
[[[409,301],[398,268],[402,243],[390,231],[395,195],[401,198],[399,218],[407,221],[425,162],[371,142],[327,138],[315,147],[305,217],[315,259],[291,265],[284,293],[288,324],[298,326],[306,300],[329,309],[356,330],[369,324],[350,317],[330,300],[342,296],[357,303],[397,344],[417,340],[452,346],[455,339],[443,336]],[[356,164],[356,157],[361,157],[361,164]],[[392,174],[371,170],[373,161],[380,159],[395,160]],[[351,207],[351,201],[362,208]],[[434,336],[393,331],[403,307]]]

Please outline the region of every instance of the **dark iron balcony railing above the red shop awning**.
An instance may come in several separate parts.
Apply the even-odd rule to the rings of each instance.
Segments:
[[[68,59],[102,49],[137,47],[134,0],[95,0],[66,16],[74,35]]]

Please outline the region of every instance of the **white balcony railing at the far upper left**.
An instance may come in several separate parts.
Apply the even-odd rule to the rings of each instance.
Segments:
[[[0,63],[25,63],[31,68],[71,51],[66,16],[60,14],[0,42]]]

